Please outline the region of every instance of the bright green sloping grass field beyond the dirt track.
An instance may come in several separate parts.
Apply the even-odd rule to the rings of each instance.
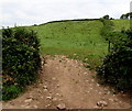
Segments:
[[[112,21],[116,30],[130,26],[128,20]],[[108,43],[100,35],[102,26],[99,20],[95,20],[53,22],[28,29],[37,32],[42,54],[67,55],[95,68],[101,64],[100,58],[108,53]]]

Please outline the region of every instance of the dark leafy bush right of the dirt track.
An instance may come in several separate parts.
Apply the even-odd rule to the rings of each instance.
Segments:
[[[118,90],[132,91],[132,31],[113,32],[110,42],[112,46],[97,69],[98,76]]]

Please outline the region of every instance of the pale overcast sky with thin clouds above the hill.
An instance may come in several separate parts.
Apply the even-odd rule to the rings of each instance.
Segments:
[[[0,0],[0,26],[32,25],[55,20],[119,19],[131,0]]]

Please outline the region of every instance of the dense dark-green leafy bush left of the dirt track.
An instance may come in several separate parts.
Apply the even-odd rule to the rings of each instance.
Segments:
[[[36,33],[23,27],[2,29],[2,99],[7,100],[37,77],[41,58]]]

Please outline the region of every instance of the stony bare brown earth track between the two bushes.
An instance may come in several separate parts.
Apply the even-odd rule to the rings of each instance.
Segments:
[[[7,109],[129,109],[130,95],[97,82],[96,73],[66,56],[46,56],[40,79],[19,98],[2,102]]]

